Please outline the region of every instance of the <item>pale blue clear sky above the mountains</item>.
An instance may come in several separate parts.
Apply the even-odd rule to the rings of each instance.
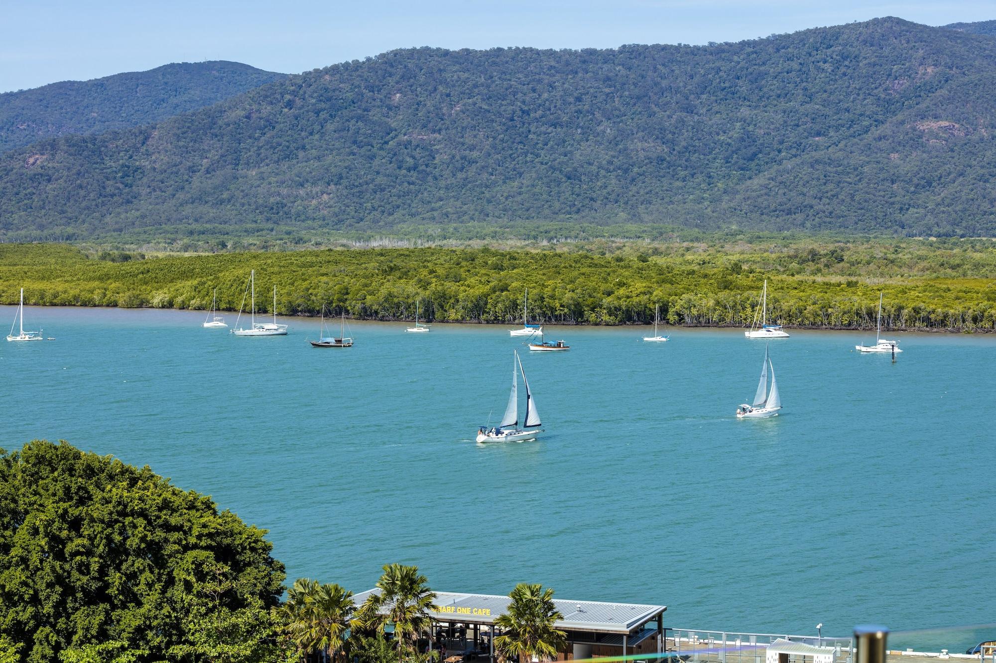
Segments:
[[[704,44],[878,16],[982,21],[996,0],[0,0],[0,92],[169,62],[297,73],[410,46]]]

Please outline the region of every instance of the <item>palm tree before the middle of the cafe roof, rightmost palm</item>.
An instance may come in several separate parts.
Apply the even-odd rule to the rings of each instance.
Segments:
[[[499,653],[505,658],[524,653],[542,663],[556,658],[567,645],[567,633],[554,628],[564,618],[554,604],[554,590],[520,582],[509,597],[512,602],[495,619],[495,626],[503,631],[495,638]]]

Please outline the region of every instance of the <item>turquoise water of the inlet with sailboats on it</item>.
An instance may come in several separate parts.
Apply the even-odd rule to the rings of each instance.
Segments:
[[[548,432],[482,446],[523,348],[507,328],[354,323],[353,348],[313,349],[317,321],[236,338],[186,312],[27,318],[57,340],[0,345],[0,446],[62,438],[148,464],[269,530],[291,578],[359,591],[401,561],[439,589],[539,581],[731,631],[996,613],[994,336],[903,334],[892,364],[852,351],[867,333],[793,332],[770,344],[784,415],[738,421],[764,341],[558,329],[571,351],[522,352]]]

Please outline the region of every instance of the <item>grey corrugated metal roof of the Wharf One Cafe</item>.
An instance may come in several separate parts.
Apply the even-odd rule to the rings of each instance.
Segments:
[[[354,596],[357,604],[367,600],[373,589]],[[503,614],[511,602],[508,596],[494,594],[464,594],[437,591],[435,603],[438,612],[431,612],[433,619],[491,624]],[[564,618],[557,628],[564,630],[628,633],[642,626],[667,609],[666,605],[640,605],[634,603],[607,603],[603,601],[575,601],[555,598],[554,603]]]

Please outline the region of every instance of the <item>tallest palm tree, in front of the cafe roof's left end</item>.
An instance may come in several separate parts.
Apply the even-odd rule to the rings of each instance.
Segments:
[[[418,566],[384,564],[383,575],[375,585],[378,591],[361,606],[360,611],[375,622],[379,632],[383,632],[387,622],[394,625],[399,660],[405,652],[415,653],[418,634],[429,625],[429,611],[438,609],[433,604],[435,592],[428,588],[427,582],[418,572]]]

